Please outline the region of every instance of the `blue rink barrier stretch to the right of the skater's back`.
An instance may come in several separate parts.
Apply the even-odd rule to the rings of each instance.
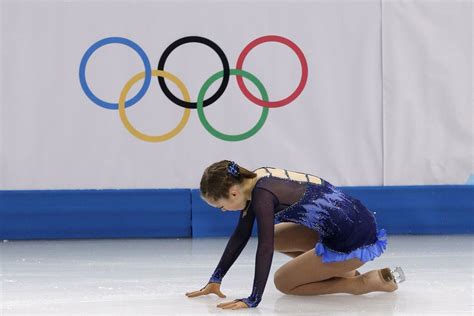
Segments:
[[[343,187],[389,234],[474,233],[474,186]]]

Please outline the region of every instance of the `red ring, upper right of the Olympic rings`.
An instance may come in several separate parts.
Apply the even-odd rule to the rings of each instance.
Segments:
[[[290,41],[289,39],[285,37],[281,37],[278,35],[267,35],[267,36],[262,36],[257,39],[254,39],[247,46],[245,46],[244,50],[240,53],[240,56],[237,59],[237,65],[235,66],[235,68],[242,70],[244,59],[245,57],[247,57],[247,54],[250,52],[250,50],[255,48],[255,46],[265,43],[265,42],[279,42],[279,43],[285,44],[286,46],[291,48],[295,52],[295,54],[298,56],[298,59],[301,63],[301,79],[300,79],[300,83],[298,84],[298,87],[296,87],[296,90],[293,91],[292,94],[290,94],[288,97],[284,99],[281,99],[278,101],[263,101],[256,98],[255,96],[253,96],[253,94],[249,92],[241,76],[236,76],[236,79],[237,79],[237,84],[239,85],[240,90],[247,97],[247,99],[263,107],[277,108],[277,107],[287,105],[288,103],[292,102],[301,94],[301,92],[304,89],[304,86],[306,85],[306,80],[308,79],[308,64],[306,62],[306,58],[304,57],[303,52],[295,43],[293,43],[292,41]]]

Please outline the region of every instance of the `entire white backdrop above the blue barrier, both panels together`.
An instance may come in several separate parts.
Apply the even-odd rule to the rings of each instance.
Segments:
[[[384,3],[383,10],[380,1],[1,3],[0,189],[197,187],[202,170],[220,159],[233,159],[249,168],[267,165],[307,171],[336,185],[464,183],[473,170],[468,115],[472,99],[469,89],[464,89],[464,85],[471,87],[472,55],[463,41],[471,35],[472,17],[464,12],[466,8],[470,12],[470,1],[443,5],[450,18],[457,18],[455,23],[440,17],[437,8],[429,10],[441,4],[427,2],[421,16],[427,15],[432,24],[422,19],[420,26],[410,22],[420,7],[406,2]],[[404,16],[411,23],[408,29],[402,27]],[[387,21],[382,23],[382,18]],[[387,29],[383,34],[382,25]],[[419,28],[422,38],[435,38],[436,44],[404,38],[406,32]],[[445,37],[436,36],[439,29]],[[94,104],[79,82],[82,56],[106,37],[134,41],[156,68],[172,42],[203,36],[216,42],[235,68],[242,49],[269,34],[300,47],[308,62],[308,81],[296,100],[270,109],[263,128],[244,141],[215,138],[201,125],[196,110],[176,137],[159,143],[139,140],[125,129],[118,111]],[[449,34],[459,40],[451,41]],[[459,53],[438,58],[431,49],[444,47],[448,40],[453,45],[449,52]],[[392,48],[400,45],[419,54],[398,54]],[[419,66],[429,56],[437,62]],[[406,72],[403,67],[418,74],[448,70],[438,84],[428,80],[418,87],[399,76]],[[290,94],[301,76],[296,55],[276,43],[252,50],[243,68],[262,81],[271,100]],[[165,66],[185,83],[193,101],[204,81],[221,69],[217,55],[199,44],[177,48]],[[113,44],[91,56],[86,75],[98,97],[117,102],[124,84],[143,70],[133,50]],[[459,81],[452,82],[458,76]],[[129,98],[140,87],[141,82]],[[411,105],[414,108],[407,108],[406,99],[398,99],[407,89],[407,98],[417,100]],[[441,96],[437,114],[430,116],[428,124],[439,126],[433,134],[415,118],[426,117],[429,101]],[[244,97],[231,77],[225,93],[205,112],[217,129],[241,133],[257,122],[261,108]],[[149,134],[168,132],[182,113],[163,95],[156,78],[143,99],[127,108],[132,124]],[[443,113],[451,121],[446,123]],[[407,121],[412,123],[402,128]],[[431,141],[432,137],[438,140]],[[407,163],[407,153],[420,147],[429,153],[431,165],[442,167],[425,168],[421,151],[409,156],[413,163]]]

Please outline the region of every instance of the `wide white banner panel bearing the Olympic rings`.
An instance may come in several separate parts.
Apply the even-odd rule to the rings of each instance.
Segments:
[[[380,7],[377,2],[4,1],[2,16],[2,188],[196,187],[215,160],[249,168],[282,166],[312,172],[337,184],[381,184]],[[136,43],[156,69],[165,49],[183,37],[215,42],[230,68],[253,40],[276,35],[304,54],[307,82],[287,105],[269,110],[253,136],[229,142],[211,135],[196,110],[175,137],[147,142],[132,135],[117,110],[87,97],[79,65],[96,42],[121,37]],[[177,47],[164,69],[176,75],[192,101],[223,69],[208,46]],[[302,66],[293,50],[264,42],[246,56],[243,70],[256,76],[269,99],[298,87]],[[144,62],[122,44],[98,48],[86,79],[100,99],[117,103],[125,83]],[[249,101],[235,76],[205,107],[209,122],[227,134],[254,126],[262,107]],[[137,82],[128,98],[143,85]],[[220,80],[206,96],[217,90]],[[170,82],[170,90],[181,97]],[[259,92],[246,81],[253,95]],[[139,131],[172,130],[184,109],[151,78],[143,98],[126,109]]]

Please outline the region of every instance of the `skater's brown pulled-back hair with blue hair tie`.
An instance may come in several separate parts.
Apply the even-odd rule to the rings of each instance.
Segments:
[[[245,179],[252,179],[256,176],[256,173],[233,161],[215,162],[204,170],[200,184],[201,196],[212,200],[227,199],[230,187],[242,184]]]

